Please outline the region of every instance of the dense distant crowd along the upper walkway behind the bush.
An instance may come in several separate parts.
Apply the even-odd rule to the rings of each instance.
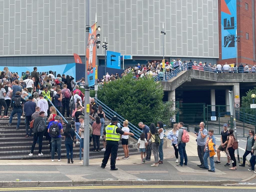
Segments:
[[[163,67],[161,61],[154,61],[150,63],[148,61],[145,65],[140,65],[138,63],[134,67],[128,67],[124,69],[124,72],[121,74],[115,73],[115,74],[109,74],[106,73],[103,78],[98,79],[98,84],[104,84],[108,83],[109,81],[114,81],[116,79],[120,79],[126,74],[132,72],[134,79],[138,79],[140,77],[159,77],[159,79],[163,79],[164,75],[165,78],[168,80],[170,74],[174,74],[174,70],[180,68],[180,70],[188,70],[188,69],[198,69],[198,70],[204,70],[208,72],[215,72],[215,73],[255,73],[256,72],[256,65],[249,66],[248,64],[243,65],[240,63],[240,65],[234,64],[228,64],[225,63],[222,64],[211,64],[211,63],[202,63],[201,61],[197,63],[196,61],[192,60],[186,60],[181,61],[181,59],[177,58],[172,59],[171,62],[169,60],[166,60],[165,65]]]

